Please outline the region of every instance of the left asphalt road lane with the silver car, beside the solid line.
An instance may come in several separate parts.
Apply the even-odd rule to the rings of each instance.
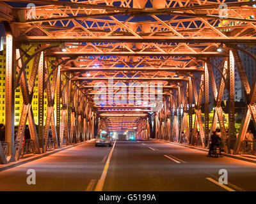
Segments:
[[[0,171],[0,191],[86,191],[92,179],[100,179],[110,149],[92,141]],[[28,169],[36,171],[36,185],[26,184]]]

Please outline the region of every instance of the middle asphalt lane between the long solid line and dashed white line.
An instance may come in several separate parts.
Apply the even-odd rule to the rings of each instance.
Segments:
[[[207,181],[209,175],[198,171],[199,166],[172,162],[161,145],[143,143],[116,143],[103,191],[225,191]]]

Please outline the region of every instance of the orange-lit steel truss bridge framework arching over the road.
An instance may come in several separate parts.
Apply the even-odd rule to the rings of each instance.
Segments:
[[[14,8],[7,2],[24,3],[24,7]],[[34,3],[35,8],[27,8],[29,3]],[[237,45],[256,43],[256,20],[252,18],[256,8],[253,1],[227,1],[227,15],[223,18],[219,15],[221,3],[225,0],[1,0],[0,20],[6,30],[7,142],[6,151],[0,143],[1,163],[20,158],[27,122],[36,154],[47,151],[50,127],[55,148],[61,148],[64,139],[68,145],[93,138],[96,122],[98,131],[136,129],[138,138],[148,139],[152,107],[130,103],[100,106],[93,102],[95,84],[101,82],[108,87],[109,79],[114,86],[122,83],[124,87],[128,83],[135,87],[142,82],[148,87],[152,82],[162,83],[163,106],[153,114],[156,138],[179,142],[184,131],[188,143],[193,145],[199,129],[202,147],[218,122],[223,143],[227,140],[221,109],[223,91],[227,89],[225,152],[234,149],[238,153],[251,117],[256,124],[256,84],[248,84],[238,52],[246,50]],[[36,47],[35,52],[29,54],[29,49],[22,49],[24,44]],[[217,51],[219,47],[223,48],[221,52]],[[217,66],[212,63],[214,60],[219,62]],[[25,68],[31,61],[33,68],[28,78]],[[237,139],[235,66],[246,96],[246,111]],[[213,69],[221,73],[219,87]],[[38,128],[31,108],[36,77]],[[17,87],[24,103],[14,140]],[[215,106],[210,131],[209,89]],[[108,95],[108,99],[111,97]]]

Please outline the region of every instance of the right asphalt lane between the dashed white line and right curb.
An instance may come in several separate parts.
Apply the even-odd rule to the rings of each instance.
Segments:
[[[207,152],[175,145],[173,143],[149,141],[147,145],[157,148],[162,154],[170,154],[189,163],[186,168],[198,173],[212,175],[212,179],[218,180],[219,170],[228,171],[228,183],[234,185],[237,190],[256,191],[256,164],[241,161],[231,157],[207,157]],[[233,187],[232,187],[233,188]]]

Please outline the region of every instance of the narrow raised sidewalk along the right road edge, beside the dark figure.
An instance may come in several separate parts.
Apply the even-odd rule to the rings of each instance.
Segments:
[[[172,143],[173,145],[180,145],[180,146],[188,147],[188,148],[191,148],[191,149],[197,149],[197,150],[200,150],[202,152],[208,152],[209,151],[208,149],[204,149],[202,147],[195,147],[195,146],[191,146],[191,145],[185,145],[185,144],[182,144],[182,143],[170,142],[170,141],[166,141],[166,140],[159,140],[159,139],[154,139],[154,138],[150,138],[150,140]],[[234,154],[227,154],[225,152],[222,152],[222,154],[223,154],[223,156],[231,157],[233,159],[239,159],[239,160],[242,160],[242,161],[248,161],[250,163],[255,163],[256,164],[256,156],[254,156],[254,155],[250,155],[250,154],[240,154],[240,155],[236,154],[236,155],[234,155]]]

